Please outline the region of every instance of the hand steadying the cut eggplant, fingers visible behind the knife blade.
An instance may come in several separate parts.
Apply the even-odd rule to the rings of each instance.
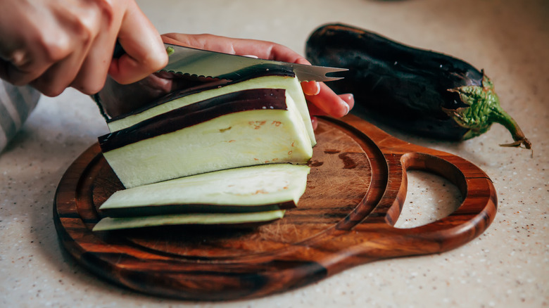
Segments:
[[[206,49],[223,53],[234,53],[241,56],[256,56],[268,60],[279,60],[289,63],[310,65],[309,61],[286,46],[270,41],[255,39],[232,39],[211,34],[163,34],[163,41],[171,44],[181,44],[197,49]],[[331,115],[343,117],[354,105],[352,94],[336,95],[323,82],[302,82],[303,94],[310,103],[311,115]],[[313,126],[316,121],[313,119]]]

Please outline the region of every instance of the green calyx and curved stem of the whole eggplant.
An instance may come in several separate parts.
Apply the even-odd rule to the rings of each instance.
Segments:
[[[530,149],[531,142],[526,139],[517,122],[501,108],[500,98],[494,91],[493,83],[484,75],[484,71],[482,74],[482,86],[460,86],[455,89],[448,89],[450,92],[459,94],[463,103],[466,103],[469,107],[455,110],[444,109],[444,111],[461,127],[469,129],[463,139],[470,139],[484,134],[496,122],[507,128],[515,141],[500,146],[519,147],[524,145],[524,148]]]

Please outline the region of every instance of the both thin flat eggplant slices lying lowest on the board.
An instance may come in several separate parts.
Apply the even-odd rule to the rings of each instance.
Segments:
[[[306,165],[227,169],[117,191],[94,231],[183,224],[258,226],[280,219],[305,192]]]

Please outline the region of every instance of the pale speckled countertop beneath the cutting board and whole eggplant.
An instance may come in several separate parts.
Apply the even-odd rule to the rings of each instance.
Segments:
[[[213,33],[277,41],[303,51],[318,25],[344,22],[484,68],[503,108],[534,143],[494,126],[463,143],[394,136],[445,150],[483,169],[498,214],[479,238],[450,252],[390,259],[256,300],[181,302],[118,288],[76,264],[57,239],[53,195],[70,163],[106,132],[87,96],[42,98],[0,155],[0,307],[548,307],[549,3],[545,0],[139,1],[160,32]],[[411,172],[403,227],[456,206],[446,181]]]

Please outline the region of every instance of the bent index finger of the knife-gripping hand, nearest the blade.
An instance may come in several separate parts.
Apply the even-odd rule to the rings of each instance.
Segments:
[[[122,19],[118,40],[126,53],[112,61],[108,73],[120,84],[137,82],[168,63],[160,34],[133,1]]]

